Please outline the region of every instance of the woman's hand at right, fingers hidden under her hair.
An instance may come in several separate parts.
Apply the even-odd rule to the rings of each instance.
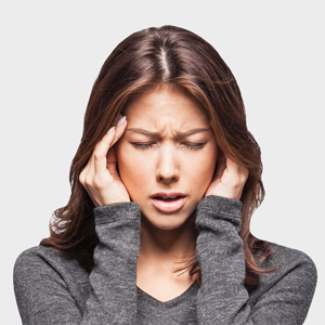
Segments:
[[[205,194],[239,199],[248,178],[248,169],[238,166],[219,152],[216,174]]]

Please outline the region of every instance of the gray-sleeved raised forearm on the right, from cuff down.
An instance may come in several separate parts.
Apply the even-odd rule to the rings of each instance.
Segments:
[[[197,206],[197,259],[202,270],[198,291],[199,324],[252,324],[244,286],[245,258],[240,229],[242,203],[214,195]]]

